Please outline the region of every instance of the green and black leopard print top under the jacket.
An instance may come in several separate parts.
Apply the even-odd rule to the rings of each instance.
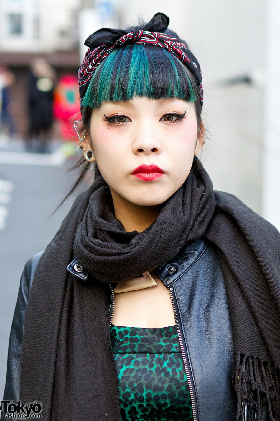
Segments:
[[[193,421],[176,326],[110,326],[123,421]]]

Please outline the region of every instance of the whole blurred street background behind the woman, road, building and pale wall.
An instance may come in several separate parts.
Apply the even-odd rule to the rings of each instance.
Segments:
[[[280,3],[277,0],[0,0],[0,397],[21,272],[73,203],[67,126],[79,118],[84,40],[101,27],[170,17],[199,60],[214,188],[280,229]],[[81,186],[83,188],[84,186]]]

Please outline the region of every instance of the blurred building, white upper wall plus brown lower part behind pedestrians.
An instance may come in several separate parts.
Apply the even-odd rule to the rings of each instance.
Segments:
[[[26,79],[35,58],[46,59],[58,77],[79,67],[79,0],[1,0],[0,65],[15,75],[13,113],[19,136],[27,131]]]

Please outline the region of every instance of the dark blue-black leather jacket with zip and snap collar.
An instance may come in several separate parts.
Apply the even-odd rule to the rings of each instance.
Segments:
[[[33,256],[21,277],[10,333],[4,400],[17,401],[26,304],[37,263]],[[78,266],[75,266],[78,264]],[[85,281],[88,274],[74,259],[68,271]],[[77,270],[78,269],[78,270]],[[214,248],[198,240],[182,249],[156,275],[169,289],[184,365],[191,392],[194,421],[235,421],[236,398],[231,384],[233,338],[222,271]],[[114,294],[110,285],[110,317]],[[244,421],[254,421],[255,408],[244,408]],[[267,421],[263,413],[263,421]],[[4,421],[3,414],[1,421]]]

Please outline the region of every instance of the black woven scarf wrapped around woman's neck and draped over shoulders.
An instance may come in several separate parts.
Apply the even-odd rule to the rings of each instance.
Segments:
[[[267,405],[280,419],[280,234],[236,197],[213,192],[194,159],[185,183],[144,232],[124,232],[100,176],[73,204],[35,272],[25,315],[22,402],[41,401],[42,420],[119,421],[118,376],[110,347],[109,283],[172,260],[205,237],[216,246],[233,325],[242,405]],[[74,257],[86,282],[66,271]],[[203,363],[203,362],[201,362]]]

